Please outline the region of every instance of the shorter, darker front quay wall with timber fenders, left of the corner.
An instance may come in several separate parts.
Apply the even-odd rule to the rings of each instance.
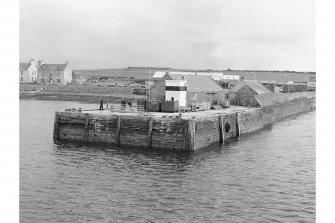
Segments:
[[[188,122],[189,120],[180,118],[153,119],[141,116],[57,112],[54,138],[111,143],[125,147],[189,150],[185,147],[188,141]]]

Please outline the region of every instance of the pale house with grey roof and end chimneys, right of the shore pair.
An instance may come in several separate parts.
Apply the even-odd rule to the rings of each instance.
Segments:
[[[38,61],[38,80],[40,84],[71,84],[72,69],[69,62],[64,64],[44,64]]]

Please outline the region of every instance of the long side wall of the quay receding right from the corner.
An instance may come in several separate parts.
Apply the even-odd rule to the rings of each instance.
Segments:
[[[302,97],[253,111],[199,119],[195,125],[194,150],[261,129],[277,120],[307,112],[313,108],[315,108],[315,97]],[[226,123],[229,124],[229,129],[225,128]]]

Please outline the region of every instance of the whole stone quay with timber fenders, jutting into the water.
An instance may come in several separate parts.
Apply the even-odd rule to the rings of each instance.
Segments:
[[[56,112],[53,137],[59,141],[107,143],[194,151],[315,108],[315,92],[262,99],[264,106],[230,106],[186,113],[80,111]]]

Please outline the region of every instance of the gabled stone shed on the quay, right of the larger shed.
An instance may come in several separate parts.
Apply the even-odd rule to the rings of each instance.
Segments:
[[[239,82],[229,91],[230,103],[242,106],[259,106],[256,95],[271,94],[272,92],[255,80]]]

